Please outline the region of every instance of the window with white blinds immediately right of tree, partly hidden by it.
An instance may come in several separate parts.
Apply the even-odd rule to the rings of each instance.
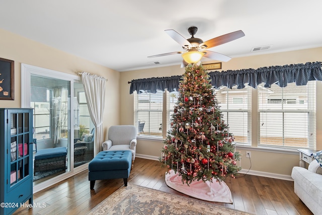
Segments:
[[[251,145],[251,87],[215,89],[223,120],[238,144]]]

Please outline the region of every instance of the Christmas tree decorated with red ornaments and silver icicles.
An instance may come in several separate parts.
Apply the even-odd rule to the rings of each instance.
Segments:
[[[178,91],[160,162],[181,176],[183,184],[235,177],[239,153],[201,64],[187,65]]]

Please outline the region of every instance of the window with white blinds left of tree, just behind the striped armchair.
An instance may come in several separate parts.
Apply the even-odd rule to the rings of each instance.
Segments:
[[[139,135],[162,137],[162,91],[134,93],[134,125]]]

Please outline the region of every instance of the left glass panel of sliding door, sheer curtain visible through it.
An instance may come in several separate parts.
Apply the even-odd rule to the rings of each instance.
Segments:
[[[31,75],[30,107],[34,108],[33,139],[34,159],[42,152],[49,153],[48,159],[42,159],[39,165],[48,166],[35,171],[34,184],[51,179],[66,171],[70,171],[70,164],[61,167],[55,160],[56,148],[64,147],[70,151],[70,81]],[[51,149],[48,151],[48,149]],[[43,151],[47,150],[47,151]],[[70,156],[70,153],[68,154]],[[50,157],[50,159],[49,159]],[[66,160],[68,157],[66,156]],[[64,165],[63,165],[64,166]]]

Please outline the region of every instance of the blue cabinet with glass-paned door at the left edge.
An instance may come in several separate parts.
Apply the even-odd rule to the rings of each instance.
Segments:
[[[0,108],[1,215],[33,204],[32,135],[33,109]]]

